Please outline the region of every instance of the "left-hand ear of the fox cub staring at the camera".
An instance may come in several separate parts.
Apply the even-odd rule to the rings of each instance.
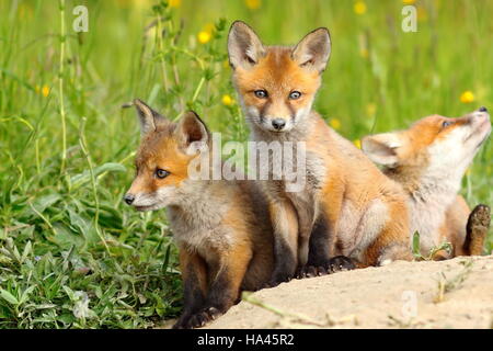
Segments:
[[[233,69],[250,68],[265,55],[265,48],[246,23],[234,21],[228,34],[228,55]]]

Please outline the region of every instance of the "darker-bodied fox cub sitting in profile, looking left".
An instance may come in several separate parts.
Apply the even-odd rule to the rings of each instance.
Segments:
[[[266,203],[254,182],[192,179],[192,162],[211,150],[204,148],[211,138],[194,112],[172,123],[140,100],[134,105],[141,143],[125,202],[138,211],[168,208],[184,284],[184,312],[174,328],[202,327],[231,307],[240,291],[268,282],[274,245]]]

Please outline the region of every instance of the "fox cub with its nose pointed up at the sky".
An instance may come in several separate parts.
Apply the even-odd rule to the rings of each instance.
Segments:
[[[365,154],[406,192],[411,233],[420,233],[423,256],[444,241],[452,244],[452,256],[482,253],[490,210],[478,205],[468,223],[470,210],[457,194],[490,132],[490,115],[481,107],[460,118],[432,115],[406,131],[363,138]]]

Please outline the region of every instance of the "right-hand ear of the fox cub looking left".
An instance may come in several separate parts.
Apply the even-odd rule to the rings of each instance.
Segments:
[[[180,120],[175,133],[180,147],[187,155],[205,150],[210,139],[207,126],[193,111],[188,111]]]

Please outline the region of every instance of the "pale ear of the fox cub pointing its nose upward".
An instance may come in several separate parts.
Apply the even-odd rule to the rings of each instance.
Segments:
[[[369,135],[362,139],[362,149],[375,163],[395,167],[402,140],[397,133]]]

